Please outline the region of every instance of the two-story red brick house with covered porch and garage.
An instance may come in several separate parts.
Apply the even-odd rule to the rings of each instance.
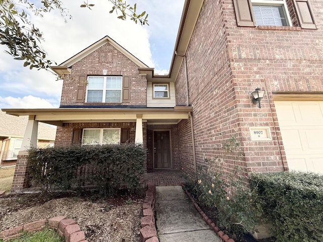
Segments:
[[[322,4],[187,0],[169,75],[105,36],[52,67],[64,79],[60,108],[4,110],[29,115],[29,130],[58,125],[57,145],[143,143],[147,172],[206,171],[215,157],[246,175],[323,172]],[[222,148],[233,136],[239,155]]]

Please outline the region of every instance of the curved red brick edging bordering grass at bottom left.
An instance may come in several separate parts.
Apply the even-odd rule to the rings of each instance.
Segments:
[[[66,216],[57,216],[16,226],[0,232],[0,238],[3,238],[5,241],[17,238],[23,235],[24,232],[40,231],[46,225],[57,230],[61,236],[65,237],[66,242],[87,242],[84,231],[81,231],[80,226],[73,219],[66,218]]]

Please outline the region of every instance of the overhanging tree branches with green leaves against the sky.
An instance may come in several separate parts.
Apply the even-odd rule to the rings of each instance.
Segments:
[[[148,25],[148,14],[137,14],[137,5],[128,5],[124,0],[108,0],[113,4],[110,13],[116,12],[118,19],[129,17],[136,24]],[[40,3],[39,3],[40,2]],[[91,9],[94,4],[84,2],[81,8]],[[68,10],[60,0],[0,0],[0,44],[6,45],[5,52],[14,59],[24,60],[24,67],[30,69],[49,69],[53,61],[47,58],[47,53],[41,46],[43,41],[41,31],[30,21],[30,15],[42,17],[52,10],[59,10],[62,17],[71,18]]]

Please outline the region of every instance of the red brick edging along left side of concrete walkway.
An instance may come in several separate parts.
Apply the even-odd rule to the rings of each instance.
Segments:
[[[148,183],[146,198],[142,205],[143,217],[141,218],[140,239],[141,242],[159,242],[155,226],[155,184]]]

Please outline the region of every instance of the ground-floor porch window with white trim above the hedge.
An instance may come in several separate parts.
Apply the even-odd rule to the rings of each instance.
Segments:
[[[83,145],[106,145],[120,143],[121,129],[83,129]]]

